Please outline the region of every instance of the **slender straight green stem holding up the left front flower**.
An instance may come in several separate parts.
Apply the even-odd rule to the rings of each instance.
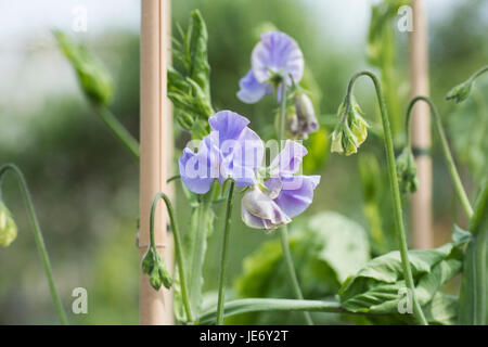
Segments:
[[[223,301],[226,297],[226,270],[227,270],[227,252],[229,248],[229,233],[232,216],[232,195],[234,192],[234,181],[230,182],[229,195],[227,197],[226,224],[223,228],[222,248],[220,250],[220,269],[219,269],[219,297],[217,301],[217,325],[223,324]]]

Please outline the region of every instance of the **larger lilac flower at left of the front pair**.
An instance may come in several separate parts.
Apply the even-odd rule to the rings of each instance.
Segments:
[[[216,179],[223,183],[228,178],[237,187],[255,184],[264,144],[247,127],[249,120],[231,111],[221,111],[208,123],[211,131],[198,144],[196,153],[185,147],[178,160],[187,188],[196,194],[205,194]]]

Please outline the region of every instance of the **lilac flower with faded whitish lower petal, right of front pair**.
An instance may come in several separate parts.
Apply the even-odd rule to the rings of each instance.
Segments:
[[[301,144],[286,141],[283,151],[271,163],[271,178],[264,187],[255,184],[244,194],[241,215],[246,226],[271,231],[287,224],[307,209],[320,176],[295,176],[306,154]]]

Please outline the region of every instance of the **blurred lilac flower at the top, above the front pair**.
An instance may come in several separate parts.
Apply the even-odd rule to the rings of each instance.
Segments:
[[[237,98],[245,103],[256,103],[271,94],[281,82],[298,82],[304,75],[304,55],[298,43],[281,31],[261,35],[251,56],[251,69],[240,82]],[[278,99],[281,97],[278,89]]]

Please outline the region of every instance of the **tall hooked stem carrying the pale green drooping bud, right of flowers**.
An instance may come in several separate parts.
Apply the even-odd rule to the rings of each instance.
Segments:
[[[346,92],[346,97],[345,97],[346,98],[345,99],[346,100],[345,113],[347,114],[349,112],[349,107],[350,107],[349,98],[352,92],[352,86],[356,82],[356,80],[361,76],[368,76],[369,78],[371,78],[371,80],[374,83],[374,88],[376,90],[376,97],[377,97],[377,101],[380,104],[380,112],[382,115],[388,178],[389,178],[389,182],[390,182],[391,198],[393,198],[393,203],[394,203],[395,226],[396,226],[396,230],[397,230],[397,236],[399,240],[401,265],[403,268],[403,277],[404,277],[407,286],[409,287],[409,290],[412,293],[413,313],[415,314],[415,318],[418,319],[418,321],[421,324],[427,325],[427,321],[424,317],[422,308],[416,298],[415,285],[414,285],[413,275],[412,275],[412,269],[410,267],[410,261],[409,261],[409,256],[408,256],[407,236],[406,236],[406,232],[404,232],[403,217],[402,217],[402,211],[401,211],[401,195],[400,195],[400,190],[398,188],[397,167],[395,165],[395,152],[394,152],[394,144],[393,144],[393,136],[391,136],[391,129],[389,127],[389,119],[388,119],[388,114],[386,111],[385,98],[383,95],[382,86],[380,83],[380,80],[373,73],[368,72],[368,70],[362,70],[362,72],[356,73],[351,77],[349,85],[347,86],[347,92]]]

